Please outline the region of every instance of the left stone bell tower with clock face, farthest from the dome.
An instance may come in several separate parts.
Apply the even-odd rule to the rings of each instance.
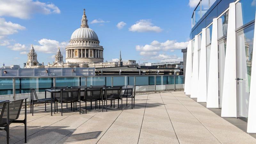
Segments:
[[[36,66],[39,66],[37,61],[37,54],[34,50],[33,44],[31,44],[30,51],[28,52],[28,61],[25,68],[34,68]]]

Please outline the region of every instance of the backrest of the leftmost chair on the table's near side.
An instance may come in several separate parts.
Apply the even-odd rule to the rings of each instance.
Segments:
[[[79,100],[80,89],[61,89],[60,96],[63,101],[68,101],[70,98],[72,98],[72,101]]]

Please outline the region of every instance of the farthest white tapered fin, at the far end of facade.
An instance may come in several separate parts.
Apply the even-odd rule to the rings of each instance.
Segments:
[[[191,77],[192,77],[192,41],[189,41],[188,49],[187,49],[185,88],[184,88],[184,92],[187,95],[191,94]]]

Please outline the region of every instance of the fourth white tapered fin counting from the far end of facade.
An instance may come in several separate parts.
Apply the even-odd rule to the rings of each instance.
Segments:
[[[207,108],[219,108],[218,87],[218,19],[212,22],[212,43],[207,85]]]

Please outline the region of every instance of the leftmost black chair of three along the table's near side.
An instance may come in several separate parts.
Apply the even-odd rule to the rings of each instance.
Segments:
[[[81,114],[81,101],[80,101],[80,89],[61,89],[60,98],[56,98],[57,102],[61,103],[61,116],[62,116],[62,103],[74,103],[79,102],[80,114]],[[75,108],[73,108],[75,111]],[[57,105],[58,110],[58,105]]]

